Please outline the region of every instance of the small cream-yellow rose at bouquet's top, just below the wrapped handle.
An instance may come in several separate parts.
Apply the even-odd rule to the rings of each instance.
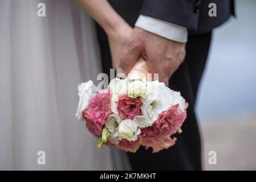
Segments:
[[[132,98],[145,98],[147,94],[147,84],[140,80],[135,80],[128,84],[128,96]]]

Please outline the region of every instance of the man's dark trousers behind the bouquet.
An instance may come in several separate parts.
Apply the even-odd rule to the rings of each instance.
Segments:
[[[176,144],[167,150],[152,154],[144,147],[135,153],[128,153],[134,170],[201,170],[201,141],[194,113],[198,85],[205,68],[212,32],[190,36],[186,44],[186,57],[178,70],[170,78],[170,88],[181,92],[189,102],[187,118],[182,125],[182,133],[175,134]],[[103,71],[109,74],[111,55],[108,42],[100,40]]]

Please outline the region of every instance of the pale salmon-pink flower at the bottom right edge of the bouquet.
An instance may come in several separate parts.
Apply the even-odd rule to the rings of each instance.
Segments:
[[[170,135],[157,135],[155,138],[142,137],[141,145],[145,146],[146,150],[152,147],[153,153],[159,152],[164,148],[167,149],[175,144],[176,138],[170,138]]]

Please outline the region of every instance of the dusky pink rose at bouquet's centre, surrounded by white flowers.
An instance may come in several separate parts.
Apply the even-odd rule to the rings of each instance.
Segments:
[[[142,115],[140,98],[131,98],[126,95],[118,97],[116,102],[119,117],[122,119],[133,119],[136,115]]]

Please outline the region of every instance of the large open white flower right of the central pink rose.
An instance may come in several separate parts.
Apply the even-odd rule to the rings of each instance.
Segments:
[[[173,105],[173,90],[165,86],[163,82],[148,81],[147,97],[142,99],[142,116],[136,116],[135,122],[139,127],[151,126],[159,117],[159,114]]]

